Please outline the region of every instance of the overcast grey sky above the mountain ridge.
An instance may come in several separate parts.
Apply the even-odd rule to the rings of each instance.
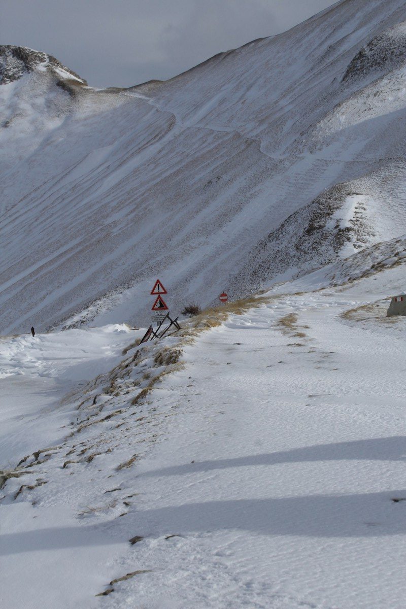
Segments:
[[[93,86],[167,79],[289,29],[332,0],[1,0],[0,44],[55,55]]]

